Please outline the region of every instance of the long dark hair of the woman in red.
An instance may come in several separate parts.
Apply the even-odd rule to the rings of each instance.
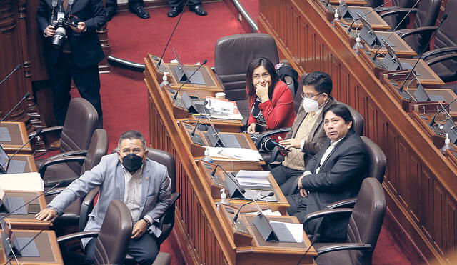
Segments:
[[[256,95],[256,89],[253,85],[252,74],[258,66],[263,66],[266,69],[266,71],[268,71],[268,74],[270,74],[271,76],[271,84],[270,87],[268,87],[268,96],[270,97],[270,99],[273,98],[274,87],[276,86],[276,83],[278,83],[279,81],[278,74],[276,74],[274,65],[273,63],[271,63],[270,60],[264,57],[253,59],[249,63],[248,70],[246,71],[246,93],[249,104],[253,104],[253,99]]]

